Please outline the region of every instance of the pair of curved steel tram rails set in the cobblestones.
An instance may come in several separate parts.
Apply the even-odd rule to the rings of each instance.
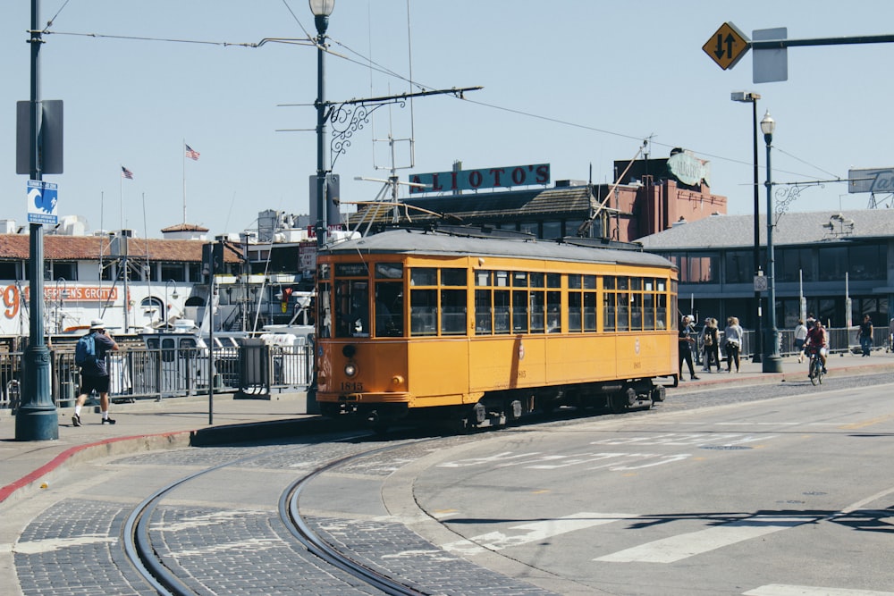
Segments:
[[[365,438],[366,436],[367,435],[358,435],[342,438],[342,442],[358,440]],[[299,508],[299,499],[302,491],[320,474],[324,474],[339,466],[348,465],[363,457],[384,454],[388,451],[407,447],[410,444],[417,445],[425,441],[435,441],[435,439],[401,440],[384,447],[360,449],[358,452],[347,456],[321,461],[314,469],[306,474],[302,474],[299,478],[289,483],[289,485],[282,491],[278,503],[280,522],[288,533],[298,541],[303,549],[316,559],[314,564],[318,567],[321,566],[321,563],[323,566],[336,567],[342,572],[357,578],[364,585],[373,588],[376,591],[375,593],[381,592],[386,594],[412,596],[429,593],[409,585],[409,583],[402,581],[400,578],[389,576],[381,570],[369,567],[368,565],[359,562],[356,558],[350,557],[349,553],[338,550],[332,544],[325,541],[324,537],[320,533],[317,533],[311,524],[308,524],[307,520],[301,515]],[[179,564],[164,560],[164,556],[161,553],[166,549],[153,542],[153,533],[150,532],[150,526],[158,523],[158,509],[162,506],[164,499],[171,498],[173,491],[176,491],[178,488],[189,483],[197,483],[203,476],[213,474],[228,467],[245,466],[250,464],[253,460],[262,457],[287,457],[289,454],[295,453],[296,449],[301,448],[291,446],[273,452],[267,451],[263,454],[240,457],[223,464],[198,470],[193,474],[183,476],[182,478],[167,483],[159,488],[147,499],[142,500],[137,507],[131,511],[131,514],[128,516],[127,521],[124,524],[122,544],[125,555],[130,560],[131,565],[159,594],[192,596],[194,594],[215,593],[214,589],[210,586],[203,585],[195,577],[184,577],[184,570]],[[187,575],[189,574],[187,573]],[[348,588],[349,586],[346,585],[345,587]]]

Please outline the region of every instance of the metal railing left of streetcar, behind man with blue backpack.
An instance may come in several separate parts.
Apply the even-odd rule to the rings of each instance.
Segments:
[[[243,352],[258,364],[246,366]],[[16,409],[20,399],[22,352],[0,352],[0,408]],[[207,348],[126,348],[108,355],[109,398],[116,402],[164,399],[207,392],[306,389],[312,378],[313,348],[307,345],[215,348],[208,370]],[[258,375],[258,371],[262,375]],[[50,391],[56,407],[74,405],[80,367],[71,350],[50,350]]]

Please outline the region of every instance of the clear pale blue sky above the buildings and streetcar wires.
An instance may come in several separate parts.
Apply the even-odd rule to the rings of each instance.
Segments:
[[[280,106],[313,104],[316,49],[123,39],[305,38],[301,26],[316,32],[306,0],[42,0],[41,21],[54,16],[41,50],[41,97],[65,106],[65,172],[45,176],[59,185],[60,215],[83,215],[92,230],[123,219],[139,236],[160,237],[182,222],[184,140],[201,153],[186,163],[188,222],[219,234],[254,227],[268,208],[308,213],[316,136],[277,130],[316,125],[313,107]],[[407,82],[410,55],[412,78],[425,88],[484,87],[466,101],[381,108],[335,164],[342,199],[375,197],[380,184],[354,177],[387,175],[375,169],[390,165],[386,145],[373,139],[389,130],[416,139],[415,167],[401,180],[461,160],[466,169],[549,163],[552,180],[586,180],[592,164],[594,181],[611,181],[612,161],[632,158],[651,138],[654,157],[685,147],[709,159],[712,189],[729,197],[730,213],[751,213],[751,106],[730,101],[741,89],[762,94],[759,117],[769,109],[777,121],[774,180],[894,166],[894,45],[791,48],[789,80],[755,85],[750,53],[722,71],[702,51],[724,21],[748,37],[772,27],[788,27],[789,38],[890,34],[894,3],[409,0],[408,36],[407,0],[336,0],[332,48],[355,62],[328,56],[327,99],[418,90]],[[30,2],[4,1],[0,27],[0,219],[25,223],[28,177],[15,174],[14,114],[15,102],[29,98]],[[367,59],[377,64],[372,73]],[[399,149],[398,165],[408,165],[406,144]],[[763,168],[763,139],[760,155]],[[122,184],[122,165],[134,180]],[[847,193],[843,183],[805,189],[790,209],[868,205],[869,195]]]

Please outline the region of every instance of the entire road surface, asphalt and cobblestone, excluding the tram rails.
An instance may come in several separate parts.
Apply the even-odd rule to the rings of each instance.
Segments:
[[[395,432],[91,461],[17,504],[22,593],[155,593],[123,560],[140,499],[208,593],[371,593],[290,541],[300,499],[339,549],[436,594],[894,596],[891,375],[680,388],[651,411],[437,437]],[[10,520],[6,520],[9,524]]]

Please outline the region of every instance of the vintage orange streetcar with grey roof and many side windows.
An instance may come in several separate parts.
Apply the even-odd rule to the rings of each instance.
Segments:
[[[664,399],[677,270],[586,240],[384,231],[317,257],[316,399],[380,429]]]

